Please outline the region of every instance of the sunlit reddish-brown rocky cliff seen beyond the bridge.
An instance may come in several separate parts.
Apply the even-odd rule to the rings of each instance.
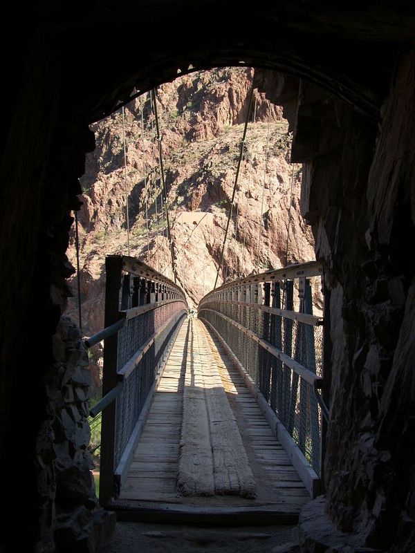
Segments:
[[[172,85],[160,88],[157,93],[178,283],[193,306],[214,285],[226,211],[230,209],[241,123],[246,118],[244,111],[253,81],[254,71],[250,68],[221,68],[210,73],[192,73],[191,78],[178,77]],[[167,236],[163,232],[166,223],[152,102],[150,95],[144,95],[144,102],[138,97],[125,106],[125,112],[118,111],[91,127],[97,137],[96,149],[86,158],[86,176],[81,179],[84,208],[78,214],[83,315],[79,316],[76,298],[68,302],[67,310],[75,324],[83,320],[83,333],[87,338],[104,327],[106,254],[125,254],[128,243],[131,255],[173,278]],[[232,275],[233,278],[245,277],[252,272],[314,258],[311,232],[306,231],[299,216],[301,165],[289,165],[291,133],[288,122],[282,119],[281,109],[265,99],[264,93],[256,93],[247,118],[250,124],[233,227],[225,250],[225,272],[221,273],[219,285],[222,279],[232,280]],[[128,144],[125,159],[121,143],[124,140]],[[199,159],[192,162],[192,158]],[[201,188],[203,194],[199,193]],[[198,220],[194,221],[195,218]],[[198,229],[202,231],[199,236]],[[294,236],[292,243],[290,233]],[[210,245],[203,253],[200,247],[205,243],[208,246],[207,235]],[[262,247],[264,238],[266,245]],[[186,265],[181,255],[186,256]],[[75,265],[74,233],[69,259]],[[196,259],[203,268],[201,271],[196,270]],[[210,280],[205,276],[209,263],[212,264]],[[73,277],[73,283],[76,280],[77,277]],[[319,288],[318,283],[315,284],[320,290],[321,285]],[[76,285],[73,294],[77,294]],[[298,310],[297,289],[294,300]],[[89,368],[95,375],[92,407],[101,397],[102,351],[102,342],[89,350]],[[93,474],[98,487],[102,481],[99,466],[102,413],[95,413],[94,410],[90,420],[89,451],[93,454]],[[138,464],[141,466],[142,462]],[[295,478],[294,485],[297,485]],[[157,491],[155,493],[158,497]],[[125,497],[121,496],[122,500]]]

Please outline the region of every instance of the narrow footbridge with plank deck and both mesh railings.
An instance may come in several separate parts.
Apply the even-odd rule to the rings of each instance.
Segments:
[[[327,417],[317,262],[185,294],[107,256],[100,503],[135,520],[295,522],[322,491]]]

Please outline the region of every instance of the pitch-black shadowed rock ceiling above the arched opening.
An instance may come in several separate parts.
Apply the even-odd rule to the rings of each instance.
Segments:
[[[54,45],[53,71],[75,115],[88,122],[116,109],[134,89],[174,79],[179,68],[183,74],[190,64],[201,69],[241,61],[309,79],[376,119],[396,48],[415,36],[411,2],[107,0],[82,8],[42,6],[37,17]]]

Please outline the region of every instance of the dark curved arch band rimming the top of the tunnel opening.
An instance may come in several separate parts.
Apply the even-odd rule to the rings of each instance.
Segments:
[[[311,39],[307,37],[307,40]],[[178,44],[176,53],[169,53],[164,57],[160,55],[156,61],[149,60],[146,66],[138,66],[135,60],[127,57],[124,63],[129,64],[129,75],[116,75],[116,82],[111,84],[111,89],[106,90],[107,87],[104,85],[95,90],[95,86],[91,86],[91,99],[77,99],[75,93],[72,99],[75,98],[75,102],[79,102],[76,109],[80,118],[94,122],[119,109],[134,95],[145,93],[165,82],[171,82],[181,75],[215,67],[246,66],[277,71],[297,79],[304,79],[344,100],[365,118],[378,119],[382,93],[385,93],[382,88],[384,83],[379,78],[380,73],[377,77],[377,86],[369,88],[367,75],[359,75],[358,72],[352,71],[351,67],[346,69],[349,74],[338,74],[335,71],[336,62],[333,60],[324,59],[320,55],[320,61],[317,53],[302,57],[279,46],[280,48],[275,48],[272,42],[259,44],[258,41],[253,41],[241,44],[241,42],[230,41],[223,48],[205,44],[201,45],[200,49],[194,50],[194,48],[181,48]],[[321,46],[320,49],[324,50],[324,48],[326,46]],[[348,46],[342,45],[339,48],[341,57],[347,57],[344,56],[344,51],[349,50]],[[338,62],[341,65],[344,59],[339,59]],[[102,68],[102,71],[111,73],[108,66]]]

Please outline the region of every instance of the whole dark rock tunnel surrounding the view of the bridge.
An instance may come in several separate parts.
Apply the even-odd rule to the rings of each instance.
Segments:
[[[88,467],[60,477],[56,469],[58,456],[82,458],[82,439],[55,447],[68,393],[62,375],[84,363],[76,330],[59,320],[73,274],[71,211],[94,149],[89,124],[179,75],[225,66],[255,68],[259,90],[284,108],[291,160],[304,164],[302,216],[327,275],[325,494],[309,515],[356,536],[356,551],[414,550],[414,7],[107,0],[10,8],[1,37],[3,550],[24,538],[27,551],[64,551],[65,536],[86,523],[105,534],[105,514],[95,516],[77,489]],[[74,489],[59,521],[62,474]],[[318,539],[304,551],[317,551]],[[99,542],[88,547],[98,551]]]

